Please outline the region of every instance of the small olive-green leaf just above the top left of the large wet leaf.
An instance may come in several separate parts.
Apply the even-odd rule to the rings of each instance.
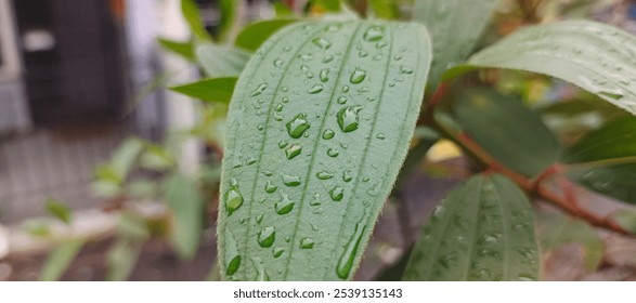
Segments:
[[[274,32],[295,22],[297,22],[297,19],[294,18],[275,18],[255,22],[238,32],[234,45],[254,52]]]

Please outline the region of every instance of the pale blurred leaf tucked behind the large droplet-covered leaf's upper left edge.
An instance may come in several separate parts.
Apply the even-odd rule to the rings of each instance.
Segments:
[[[206,43],[196,49],[196,58],[210,78],[238,77],[250,53],[231,47]]]

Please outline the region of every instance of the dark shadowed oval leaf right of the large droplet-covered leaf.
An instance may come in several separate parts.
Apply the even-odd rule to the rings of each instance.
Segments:
[[[464,89],[453,111],[468,136],[519,173],[533,176],[559,156],[556,136],[518,97],[486,89]]]

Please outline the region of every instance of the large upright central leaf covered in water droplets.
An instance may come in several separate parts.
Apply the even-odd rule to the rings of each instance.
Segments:
[[[418,24],[299,23],[251,58],[228,119],[225,279],[353,276],[413,135],[427,37]]]

